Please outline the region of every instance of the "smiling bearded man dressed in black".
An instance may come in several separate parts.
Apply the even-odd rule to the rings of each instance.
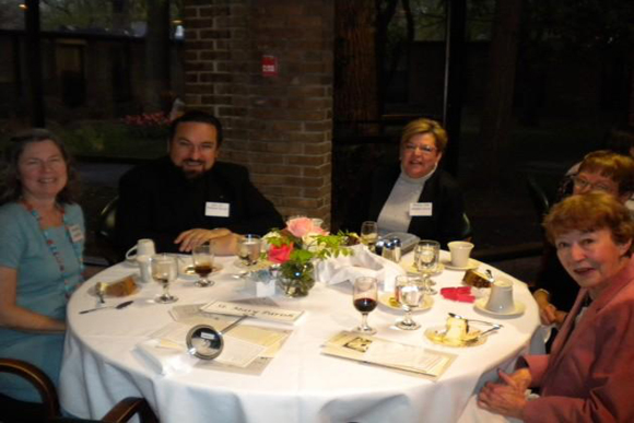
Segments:
[[[189,111],[172,124],[167,156],[121,177],[115,228],[121,252],[140,238],[153,239],[161,252],[191,251],[211,239],[231,252],[235,234],[283,226],[245,167],[216,161],[221,144],[220,121]]]

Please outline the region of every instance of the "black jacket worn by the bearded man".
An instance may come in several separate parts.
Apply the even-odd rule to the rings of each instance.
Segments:
[[[230,216],[207,216],[209,201],[230,203]],[[140,238],[153,239],[157,251],[177,251],[178,234],[197,227],[263,235],[282,225],[280,213],[250,183],[247,169],[236,164],[216,162],[190,180],[169,157],[162,157],[119,180],[115,235],[120,252]]]

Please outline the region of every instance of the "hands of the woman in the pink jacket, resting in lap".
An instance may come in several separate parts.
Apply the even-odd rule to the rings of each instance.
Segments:
[[[526,389],[531,376],[528,368],[514,373],[498,372],[502,383],[486,383],[478,395],[478,406],[493,413],[521,419],[527,403]]]

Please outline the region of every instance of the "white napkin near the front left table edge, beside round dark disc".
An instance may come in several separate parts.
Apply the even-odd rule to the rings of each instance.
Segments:
[[[183,349],[160,346],[157,339],[150,339],[137,344],[136,351],[145,363],[157,373],[167,376],[173,373],[188,373],[198,359]]]

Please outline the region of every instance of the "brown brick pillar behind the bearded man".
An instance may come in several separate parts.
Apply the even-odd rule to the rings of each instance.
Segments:
[[[223,122],[221,160],[246,165],[282,215],[329,222],[332,0],[184,3],[185,101]],[[278,75],[262,75],[263,55]]]

